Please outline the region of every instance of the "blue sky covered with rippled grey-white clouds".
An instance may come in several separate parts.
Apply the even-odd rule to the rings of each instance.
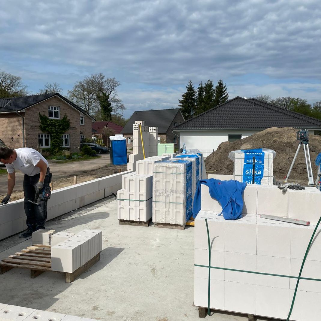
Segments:
[[[134,110],[177,107],[189,79],[230,98],[321,100],[319,0],[12,0],[1,4],[0,70],[37,93],[104,73]]]

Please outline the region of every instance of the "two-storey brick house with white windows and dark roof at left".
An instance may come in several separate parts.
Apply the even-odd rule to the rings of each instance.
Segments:
[[[59,93],[0,98],[0,138],[11,148],[50,148],[50,135],[39,129],[39,112],[51,119],[65,114],[70,119],[70,128],[61,139],[64,149],[79,152],[81,139],[91,138],[95,119]]]

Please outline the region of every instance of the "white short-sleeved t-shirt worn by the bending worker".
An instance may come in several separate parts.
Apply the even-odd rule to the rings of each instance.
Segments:
[[[49,167],[48,161],[32,148],[17,148],[15,152],[17,153],[17,158],[11,164],[5,164],[9,174],[19,169],[23,174],[29,176],[37,175],[40,173],[40,168],[36,166],[39,160],[43,160]]]

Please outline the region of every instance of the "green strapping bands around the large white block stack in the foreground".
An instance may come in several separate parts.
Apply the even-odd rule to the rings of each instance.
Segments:
[[[295,290],[294,290],[291,308],[290,308],[290,311],[289,311],[289,315],[288,315],[288,317],[286,319],[286,321],[289,321],[289,319],[291,317],[292,310],[293,310],[295,297],[296,297],[296,294],[297,294],[297,291],[298,291],[298,286],[299,286],[300,279],[302,279],[302,280],[310,280],[310,281],[321,281],[321,279],[313,279],[313,278],[301,277],[304,263],[305,263],[305,261],[307,259],[307,256],[308,256],[308,253],[309,253],[313,238],[314,238],[314,236],[316,234],[316,231],[317,231],[317,228],[318,228],[318,226],[320,224],[320,221],[321,221],[321,217],[319,218],[319,221],[317,222],[317,225],[316,225],[316,227],[315,227],[315,229],[314,229],[314,231],[312,233],[310,242],[308,244],[307,250],[305,252],[305,255],[304,255],[304,258],[303,258],[303,261],[302,261],[302,265],[301,265],[301,269],[300,269],[300,272],[299,272],[299,276],[290,276],[290,275],[273,274],[273,273],[262,273],[262,272],[237,270],[237,269],[228,269],[228,268],[224,268],[224,267],[211,266],[210,233],[209,233],[209,230],[208,230],[207,219],[205,219],[206,231],[207,231],[207,240],[208,240],[208,261],[209,261],[209,263],[208,263],[208,266],[199,265],[199,264],[194,264],[194,266],[200,266],[200,267],[207,267],[208,268],[208,307],[207,307],[207,314],[211,315],[211,308],[210,308],[211,269],[218,269],[218,270],[236,271],[236,272],[243,272],[243,273],[253,273],[253,274],[260,274],[260,275],[270,275],[270,276],[278,276],[278,277],[284,277],[284,278],[297,279],[297,284],[296,284],[296,287],[295,287]]]

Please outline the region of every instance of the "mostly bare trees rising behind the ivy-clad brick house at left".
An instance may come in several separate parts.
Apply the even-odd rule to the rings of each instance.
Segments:
[[[77,81],[72,90],[68,90],[67,98],[82,107],[96,120],[112,121],[125,126],[127,120],[123,117],[125,106],[117,95],[120,85],[115,78],[108,78],[104,74],[92,74]],[[37,94],[62,93],[59,83],[47,82]],[[28,96],[27,86],[22,78],[0,71],[0,98]]]

